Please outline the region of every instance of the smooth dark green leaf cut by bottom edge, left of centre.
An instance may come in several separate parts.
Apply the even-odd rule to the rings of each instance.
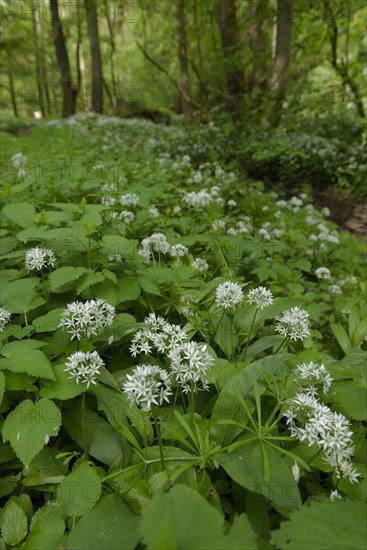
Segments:
[[[134,550],[140,537],[137,516],[118,495],[108,495],[78,521],[66,549]]]

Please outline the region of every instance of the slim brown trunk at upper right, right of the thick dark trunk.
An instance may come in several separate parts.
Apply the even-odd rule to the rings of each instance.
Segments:
[[[290,62],[292,30],[292,0],[277,0],[277,24],[275,58],[271,88],[274,96],[270,122],[277,125],[281,117],[281,108],[285,96],[286,73]]]

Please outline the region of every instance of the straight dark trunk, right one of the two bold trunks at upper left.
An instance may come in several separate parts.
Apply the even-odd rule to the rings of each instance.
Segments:
[[[92,59],[92,111],[103,112],[103,73],[99,47],[98,18],[95,0],[84,0],[90,54]]]

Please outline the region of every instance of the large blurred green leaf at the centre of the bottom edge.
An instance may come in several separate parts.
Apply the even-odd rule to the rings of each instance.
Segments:
[[[256,549],[256,535],[243,514],[224,534],[222,515],[196,492],[178,485],[156,496],[142,512],[144,543],[152,550]]]

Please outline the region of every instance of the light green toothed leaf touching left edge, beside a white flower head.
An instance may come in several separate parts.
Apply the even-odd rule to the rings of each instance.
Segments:
[[[5,359],[0,359],[0,369],[55,380],[51,363],[43,351],[35,349],[33,340],[10,342],[2,348],[1,354]]]

